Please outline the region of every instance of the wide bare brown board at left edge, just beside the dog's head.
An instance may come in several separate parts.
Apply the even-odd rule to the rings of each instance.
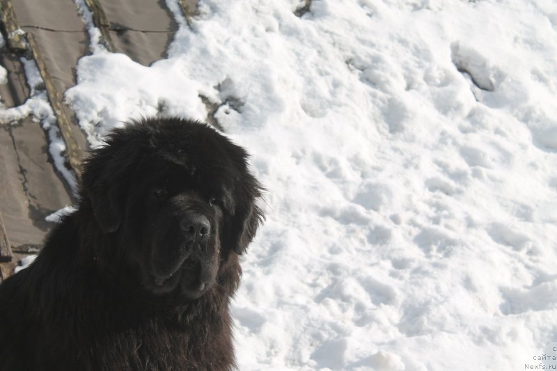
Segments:
[[[45,217],[72,203],[65,186],[38,123],[26,117],[0,125],[0,209],[13,253],[42,246],[54,226]]]

